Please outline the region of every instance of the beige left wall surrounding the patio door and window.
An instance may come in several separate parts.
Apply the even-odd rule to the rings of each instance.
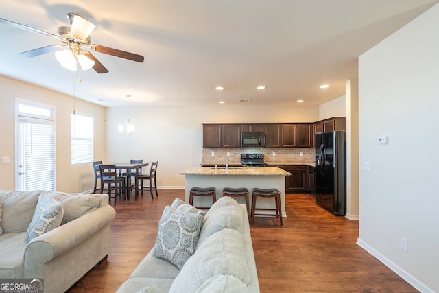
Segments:
[[[33,86],[0,75],[0,158],[10,157],[10,164],[0,165],[0,189],[15,188],[14,100],[27,99],[55,107],[56,129],[56,189],[66,192],[86,191],[93,187],[91,165],[71,165],[71,113],[73,97]],[[95,118],[95,158],[106,154],[106,108],[76,99],[76,113]],[[0,161],[1,163],[1,161]]]

